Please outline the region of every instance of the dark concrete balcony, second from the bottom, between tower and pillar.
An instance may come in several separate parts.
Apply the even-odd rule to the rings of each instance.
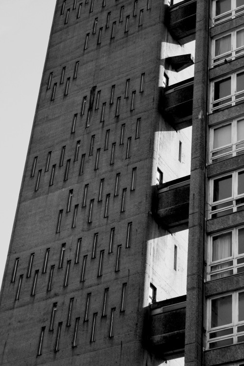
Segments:
[[[157,219],[170,233],[188,228],[190,175],[158,185]]]

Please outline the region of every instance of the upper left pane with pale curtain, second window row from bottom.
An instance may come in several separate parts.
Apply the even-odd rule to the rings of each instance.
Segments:
[[[212,261],[232,256],[232,232],[216,235],[213,237]]]

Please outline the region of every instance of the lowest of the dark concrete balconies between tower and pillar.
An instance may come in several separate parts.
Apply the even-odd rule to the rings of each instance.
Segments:
[[[185,305],[186,295],[150,305],[150,347],[160,359],[184,356]]]

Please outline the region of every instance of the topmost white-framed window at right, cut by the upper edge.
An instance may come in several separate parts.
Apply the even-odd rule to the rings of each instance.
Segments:
[[[243,14],[243,0],[214,0],[213,1],[213,23],[233,19]]]

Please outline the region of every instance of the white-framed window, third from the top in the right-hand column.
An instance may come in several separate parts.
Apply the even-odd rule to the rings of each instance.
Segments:
[[[211,94],[212,112],[240,104],[244,100],[244,72],[212,82]]]

